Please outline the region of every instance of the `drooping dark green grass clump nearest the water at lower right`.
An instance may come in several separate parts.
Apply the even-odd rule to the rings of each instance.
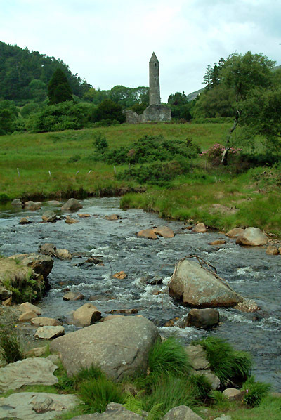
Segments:
[[[253,365],[249,353],[234,350],[233,347],[219,337],[209,336],[196,341],[207,353],[211,369],[224,386],[228,381],[242,381],[249,376]]]

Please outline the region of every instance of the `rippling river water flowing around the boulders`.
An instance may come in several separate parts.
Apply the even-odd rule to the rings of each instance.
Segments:
[[[159,328],[162,336],[177,336],[188,344],[207,334],[215,334],[230,341],[240,350],[254,355],[253,374],[256,379],[271,383],[281,391],[281,307],[280,256],[268,256],[263,248],[242,248],[218,232],[193,234],[183,222],[164,221],[156,214],[139,209],[122,211],[119,199],[85,199],[84,213],[79,223],[68,225],[64,220],[40,223],[47,209],[60,216],[60,207],[44,203],[41,210],[32,212],[15,209],[11,204],[0,207],[0,254],[37,252],[40,244],[51,242],[57,248],[72,253],[100,256],[104,265],[84,263],[86,257],[74,256],[71,261],[55,259],[48,276],[51,289],[39,303],[44,316],[66,320],[70,313],[95,296],[95,306],[102,315],[110,310],[137,309]],[[117,221],[105,216],[117,213]],[[30,216],[33,223],[19,225],[20,218]],[[70,216],[77,217],[75,214]],[[175,237],[150,240],[136,237],[136,232],[159,225],[169,226]],[[226,239],[226,244],[214,247],[214,239]],[[181,306],[168,294],[168,282],[176,262],[196,254],[216,266],[220,277],[242,296],[252,298],[261,311],[242,313],[233,308],[220,308],[220,324],[211,332],[192,327],[165,327],[172,318],[184,317],[189,308]],[[117,280],[113,274],[124,270],[127,277]],[[163,283],[151,286],[145,277],[160,276]],[[63,301],[65,289],[84,294],[84,301]],[[159,294],[155,294],[159,291]],[[65,325],[66,331],[76,329]]]

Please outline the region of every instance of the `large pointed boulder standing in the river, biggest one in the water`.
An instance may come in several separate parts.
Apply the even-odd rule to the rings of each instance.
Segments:
[[[201,265],[190,259],[176,263],[169,284],[169,295],[195,308],[230,307],[242,302],[243,298]]]

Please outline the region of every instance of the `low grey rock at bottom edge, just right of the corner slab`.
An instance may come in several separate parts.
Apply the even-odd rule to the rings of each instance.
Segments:
[[[130,412],[122,404],[116,402],[110,402],[105,412],[85,414],[84,416],[73,417],[71,420],[142,420],[144,417],[139,416],[136,413]]]

